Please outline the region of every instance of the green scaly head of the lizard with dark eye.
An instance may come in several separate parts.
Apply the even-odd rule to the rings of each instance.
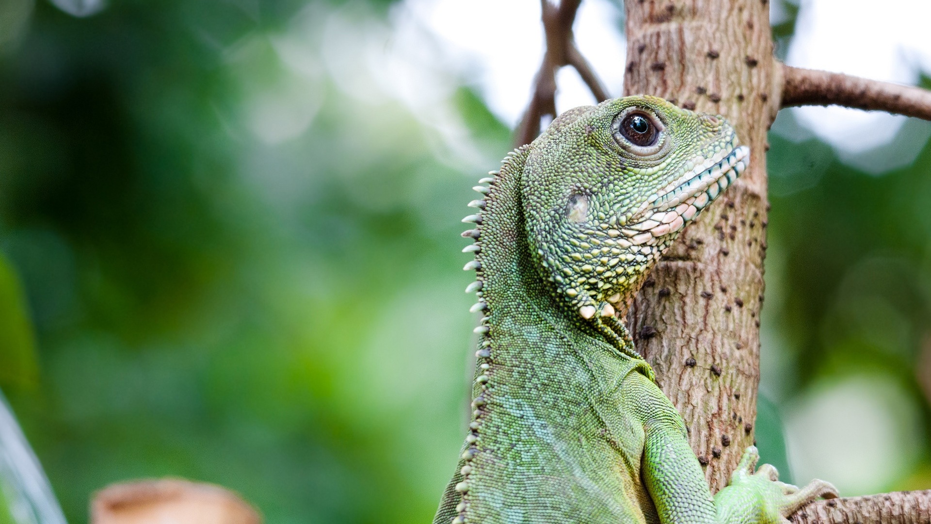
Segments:
[[[660,98],[567,111],[533,141],[524,169],[534,261],[583,317],[614,314],[748,162],[722,117]]]

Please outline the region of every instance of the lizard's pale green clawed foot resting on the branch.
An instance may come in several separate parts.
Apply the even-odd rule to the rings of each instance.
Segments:
[[[779,472],[770,464],[762,464],[756,472],[753,468],[760,460],[760,453],[755,446],[744,451],[731,483],[715,496],[715,503],[721,510],[723,522],[737,518],[744,522],[761,524],[786,524],[790,515],[803,505],[818,498],[833,499],[838,496],[837,489],[824,480],[812,480],[802,489],[779,481]],[[737,507],[753,508],[749,520],[737,517]],[[731,514],[734,515],[731,515]],[[746,513],[745,513],[746,515]]]

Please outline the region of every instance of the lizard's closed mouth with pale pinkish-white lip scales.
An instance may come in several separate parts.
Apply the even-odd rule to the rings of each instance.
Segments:
[[[654,244],[679,231],[747,169],[749,151],[740,145],[695,162],[692,170],[647,199],[641,213],[635,214],[640,219],[623,229],[627,239],[634,245]]]

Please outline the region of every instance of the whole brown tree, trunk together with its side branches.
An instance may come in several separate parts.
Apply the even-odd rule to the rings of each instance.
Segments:
[[[546,56],[518,144],[555,117],[555,74],[573,65],[600,101],[600,81],[573,43],[580,0],[541,0]],[[652,94],[727,117],[750,147],[749,170],[692,226],[629,305],[627,324],[689,428],[720,490],[753,443],[766,255],[766,131],[780,107],[841,104],[931,119],[931,93],[773,58],[768,0],[627,0],[625,95]],[[931,491],[810,504],[793,522],[931,524]]]

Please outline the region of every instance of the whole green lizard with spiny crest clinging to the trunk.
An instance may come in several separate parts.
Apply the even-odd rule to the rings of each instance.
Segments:
[[[472,420],[435,524],[778,523],[819,496],[748,448],[713,498],[618,319],[686,223],[746,169],[722,117],[654,97],[567,111],[475,189],[483,311]]]

